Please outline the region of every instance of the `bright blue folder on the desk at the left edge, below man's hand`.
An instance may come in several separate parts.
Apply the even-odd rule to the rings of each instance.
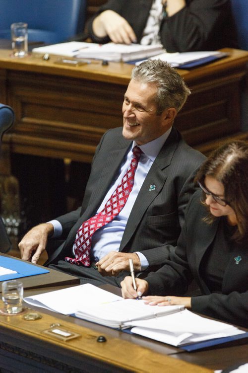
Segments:
[[[31,263],[23,262],[13,258],[0,256],[0,267],[11,269],[17,273],[11,273],[9,275],[0,276],[0,281],[19,279],[21,277],[41,275],[43,273],[49,273],[49,270],[43,267],[35,266]]]

